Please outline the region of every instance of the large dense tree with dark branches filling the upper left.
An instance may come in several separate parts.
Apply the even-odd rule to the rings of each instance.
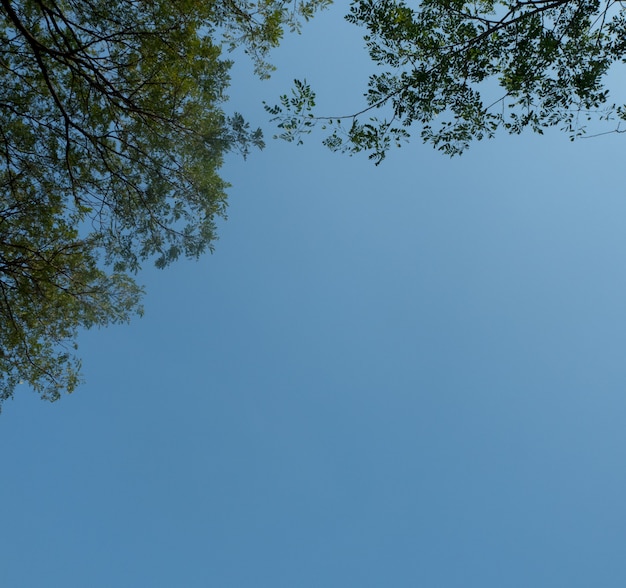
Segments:
[[[80,328],[141,312],[132,275],[212,249],[243,45],[261,76],[285,28],[328,0],[0,0],[0,402],[79,382]]]

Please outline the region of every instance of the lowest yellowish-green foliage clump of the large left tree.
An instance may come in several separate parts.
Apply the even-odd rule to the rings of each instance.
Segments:
[[[54,197],[23,193],[0,210],[0,402],[28,382],[48,400],[78,384],[79,325],[141,313],[141,289],[105,273],[94,243],[80,239]]]

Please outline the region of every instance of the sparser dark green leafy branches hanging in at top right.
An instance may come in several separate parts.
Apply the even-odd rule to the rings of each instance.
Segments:
[[[369,151],[377,163],[412,126],[450,155],[499,128],[560,126],[573,139],[593,118],[626,119],[605,87],[611,65],[626,59],[625,10],[615,0],[353,1],[346,18],[366,29],[380,68],[367,106],[317,116],[314,92],[298,82],[266,109],[288,141],[321,124],[332,129],[330,148]],[[363,121],[374,111],[384,114]]]

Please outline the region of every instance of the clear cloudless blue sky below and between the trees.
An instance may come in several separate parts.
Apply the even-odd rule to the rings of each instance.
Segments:
[[[232,107],[360,106],[342,8]],[[626,585],[625,141],[229,160],[215,253],[5,404],[0,586]]]

